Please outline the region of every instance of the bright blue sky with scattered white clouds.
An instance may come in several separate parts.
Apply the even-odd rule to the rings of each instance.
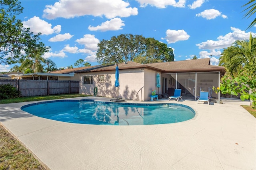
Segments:
[[[256,35],[247,29],[255,15],[244,18],[248,0],[21,0],[23,13],[16,16],[41,41],[50,46],[44,54],[57,68],[83,59],[98,65],[100,41],[120,34],[152,37],[174,50],[174,61],[194,55],[219,64],[224,48],[236,40]],[[0,65],[8,72],[13,65]]]

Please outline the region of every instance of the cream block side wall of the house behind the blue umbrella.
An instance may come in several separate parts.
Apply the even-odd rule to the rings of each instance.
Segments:
[[[80,94],[94,95],[94,87],[102,97],[144,100],[144,72],[140,69],[119,70],[119,90],[115,87],[115,70],[80,73]],[[104,75],[104,82],[98,76]],[[83,84],[84,76],[93,76],[93,84]],[[118,90],[118,91],[117,91]]]

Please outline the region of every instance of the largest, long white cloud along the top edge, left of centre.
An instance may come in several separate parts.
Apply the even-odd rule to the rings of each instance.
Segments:
[[[106,18],[129,17],[138,15],[138,8],[130,7],[122,0],[59,0],[54,5],[47,5],[43,17],[47,19],[74,18],[78,16],[106,16]]]

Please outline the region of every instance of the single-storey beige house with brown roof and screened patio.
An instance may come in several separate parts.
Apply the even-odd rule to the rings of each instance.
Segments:
[[[147,101],[152,90],[158,94],[156,75],[159,73],[159,94],[170,94],[171,88],[181,88],[183,98],[196,100],[200,91],[209,91],[211,98],[220,98],[212,92],[212,87],[220,86],[224,67],[210,65],[210,58],[152,64],[129,61],[119,63],[118,67],[118,96],[114,86],[116,65],[75,71],[80,75],[80,94],[94,95],[97,88],[97,96]]]

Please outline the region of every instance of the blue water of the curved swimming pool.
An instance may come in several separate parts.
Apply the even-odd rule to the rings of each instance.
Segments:
[[[182,104],[127,104],[93,100],[56,100],[22,106],[46,119],[93,125],[154,125],[192,119],[195,111]]]

